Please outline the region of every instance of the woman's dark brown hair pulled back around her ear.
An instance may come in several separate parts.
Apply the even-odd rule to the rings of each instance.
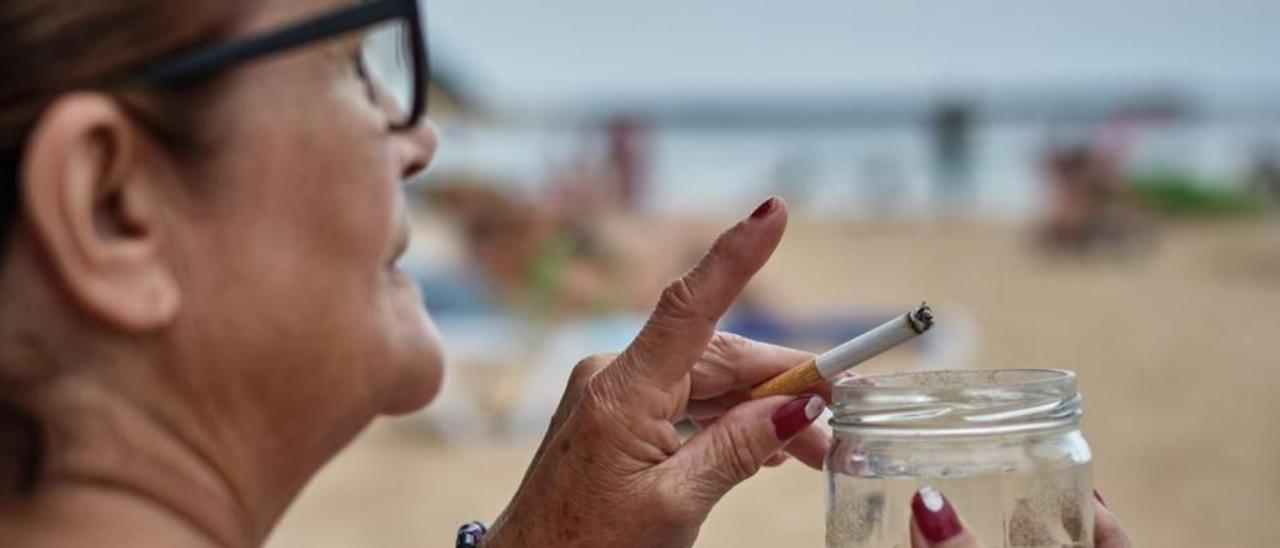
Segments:
[[[230,32],[243,1],[0,0],[0,261],[19,218],[19,169],[27,134],[61,93],[105,88],[150,63]],[[196,93],[111,90],[159,141],[189,146]],[[0,303],[4,296],[0,296]],[[37,416],[13,402],[22,382],[0,364],[0,499],[29,494],[44,461]]]

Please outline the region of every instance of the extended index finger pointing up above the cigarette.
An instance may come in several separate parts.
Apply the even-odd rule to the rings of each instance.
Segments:
[[[786,223],[786,205],[771,197],[721,234],[692,270],[663,291],[618,365],[660,387],[684,379],[710,342],[721,316],[773,255]]]

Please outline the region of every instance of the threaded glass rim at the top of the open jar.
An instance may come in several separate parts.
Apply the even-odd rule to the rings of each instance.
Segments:
[[[832,426],[893,431],[1018,431],[1080,416],[1076,375],[1064,369],[886,373],[838,380]]]

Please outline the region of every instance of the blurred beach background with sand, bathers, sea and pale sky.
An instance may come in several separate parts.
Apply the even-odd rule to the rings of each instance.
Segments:
[[[1138,545],[1274,545],[1280,4],[430,1],[439,155],[408,268],[439,399],[332,463],[275,547],[448,545],[515,492],[567,371],[769,195],[724,328],[823,350],[927,298],[867,370],[1073,369]],[[765,470],[700,547],[822,545]]]

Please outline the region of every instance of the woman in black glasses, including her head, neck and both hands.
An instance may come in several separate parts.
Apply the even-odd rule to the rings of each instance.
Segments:
[[[0,0],[0,545],[261,544],[370,420],[431,399],[396,268],[435,149],[416,9]],[[785,224],[765,201],[575,369],[484,545],[689,545],[782,449],[820,466],[820,399],[742,398],[805,355],[714,332]],[[707,428],[681,443],[682,416]],[[964,538],[920,516],[923,545]]]

